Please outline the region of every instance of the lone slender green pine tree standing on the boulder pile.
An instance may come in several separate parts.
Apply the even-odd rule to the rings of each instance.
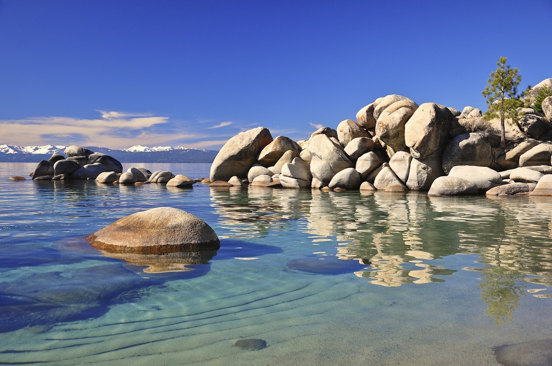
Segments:
[[[511,68],[506,65],[506,57],[500,57],[495,71],[487,80],[487,86],[481,94],[486,98],[485,103],[489,109],[485,112],[484,118],[492,120],[500,117],[500,146],[506,146],[506,131],[504,121],[511,119],[513,123],[519,120],[517,107],[522,105],[517,94],[517,87],[521,83],[521,75],[517,67]]]

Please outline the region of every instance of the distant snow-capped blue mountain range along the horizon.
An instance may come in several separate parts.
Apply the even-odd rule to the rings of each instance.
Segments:
[[[85,146],[95,153],[103,153],[114,157],[121,163],[213,163],[218,151],[187,148],[183,146],[136,145],[125,150],[108,149],[105,147]],[[66,146],[14,146],[0,145],[0,162],[38,163],[47,160],[54,153],[63,154]]]

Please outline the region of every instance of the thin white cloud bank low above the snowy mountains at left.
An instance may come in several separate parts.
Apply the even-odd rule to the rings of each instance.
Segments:
[[[101,118],[31,117],[23,120],[0,120],[0,144],[19,146],[81,145],[126,149],[134,145],[187,147],[220,147],[233,134],[200,134],[190,132],[183,121],[169,121],[168,117],[152,114],[98,110]],[[221,122],[210,128],[231,125]],[[186,128],[190,126],[189,128]],[[216,138],[216,140],[215,140]]]

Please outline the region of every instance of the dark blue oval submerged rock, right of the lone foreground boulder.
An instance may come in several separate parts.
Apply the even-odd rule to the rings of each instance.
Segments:
[[[316,273],[317,275],[341,275],[342,273],[353,273],[365,265],[354,260],[341,260],[336,256],[326,257],[305,257],[288,262],[292,270]]]

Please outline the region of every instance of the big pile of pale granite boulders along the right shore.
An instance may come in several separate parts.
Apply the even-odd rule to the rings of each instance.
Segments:
[[[484,120],[480,109],[418,105],[397,94],[364,106],[356,121],[322,127],[307,140],[273,139],[267,128],[253,128],[221,148],[211,165],[211,186],[537,194],[540,178],[552,173],[550,101],[543,103],[544,115],[523,108],[518,123],[506,121],[505,147],[500,119]],[[540,192],[552,195],[548,176],[542,182]]]

